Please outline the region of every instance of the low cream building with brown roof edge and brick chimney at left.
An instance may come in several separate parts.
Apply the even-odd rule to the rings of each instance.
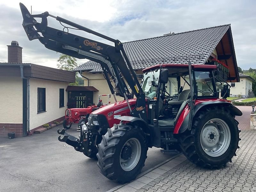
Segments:
[[[22,47],[8,45],[8,62],[0,63],[0,136],[26,136],[46,123],[64,119],[69,82],[75,73],[22,63]]]

